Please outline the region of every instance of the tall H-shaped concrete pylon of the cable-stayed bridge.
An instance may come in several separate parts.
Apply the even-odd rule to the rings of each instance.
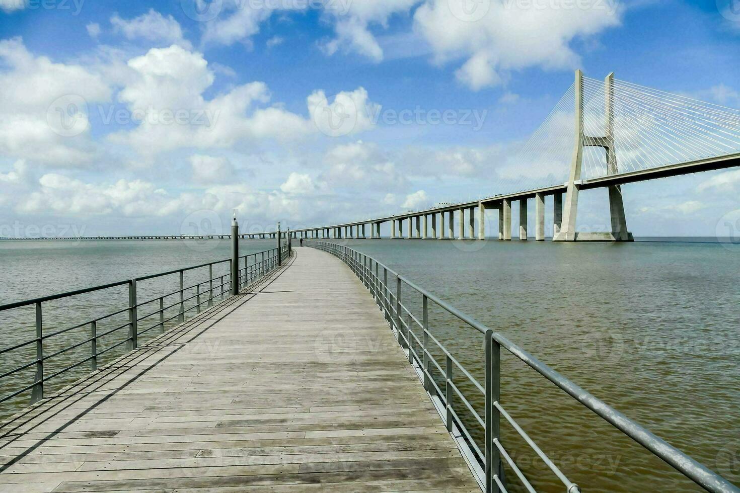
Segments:
[[[634,241],[632,234],[627,230],[625,205],[622,201],[622,187],[612,185],[609,190],[609,211],[611,216],[610,232],[577,232],[576,215],[578,213],[578,194],[581,184],[581,170],[583,166],[583,149],[585,147],[600,147],[606,153],[607,174],[617,174],[619,168],[614,146],[614,73],[606,76],[604,81],[604,112],[605,135],[585,135],[583,125],[583,72],[576,70],[576,138],[571,159],[571,171],[568,175],[568,190],[565,194],[565,210],[562,214],[562,225],[553,237],[555,242],[573,241]]]

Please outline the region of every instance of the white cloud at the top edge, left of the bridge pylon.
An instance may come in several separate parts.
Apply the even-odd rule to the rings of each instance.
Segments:
[[[465,59],[457,78],[474,90],[502,84],[511,70],[576,67],[580,59],[571,47],[573,39],[620,22],[620,12],[598,0],[587,0],[585,6],[579,2],[577,8],[491,1],[484,16],[468,20],[452,13],[459,1],[465,0],[428,0],[416,10],[414,27],[431,45],[437,63]],[[488,2],[477,5],[484,8]]]

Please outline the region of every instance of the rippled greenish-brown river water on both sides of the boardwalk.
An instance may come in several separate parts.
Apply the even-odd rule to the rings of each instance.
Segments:
[[[229,242],[212,241],[0,242],[0,304],[226,259]],[[242,254],[272,248],[273,243],[243,241]],[[346,240],[346,244],[508,336],[596,397],[740,484],[737,251],[701,239],[632,244],[493,240]],[[175,289],[175,284],[172,280],[149,288],[149,295],[159,296]],[[60,308],[53,320],[58,323],[79,311],[87,315],[95,304],[118,309],[121,299],[123,293],[91,297]],[[418,301],[408,299],[410,306]],[[430,320],[434,336],[482,381],[480,335],[438,310],[431,311]],[[0,330],[0,347],[27,339],[33,332],[33,313],[4,314]],[[0,373],[29,357],[21,356],[13,361],[3,358]],[[582,491],[699,491],[505,351],[501,380],[502,405]],[[0,386],[2,395],[10,390],[4,381]],[[481,409],[481,396],[471,387],[465,394]],[[27,396],[0,404],[0,418],[24,404]],[[503,418],[501,429],[502,442],[537,491],[565,491]],[[507,473],[510,491],[523,491]]]

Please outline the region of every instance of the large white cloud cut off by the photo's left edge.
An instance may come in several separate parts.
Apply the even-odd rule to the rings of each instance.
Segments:
[[[58,166],[89,162],[87,105],[111,94],[101,76],[35,57],[21,38],[0,41],[0,61],[0,153]]]

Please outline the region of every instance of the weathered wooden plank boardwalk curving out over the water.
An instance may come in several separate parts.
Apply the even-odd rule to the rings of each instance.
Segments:
[[[371,296],[297,248],[0,428],[2,492],[480,492]]]

